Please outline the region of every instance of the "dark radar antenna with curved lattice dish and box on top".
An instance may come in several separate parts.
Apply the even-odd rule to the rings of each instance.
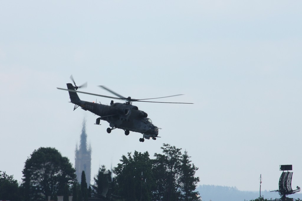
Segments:
[[[293,172],[289,172],[289,170],[293,170],[292,165],[280,165],[280,171],[282,171],[282,174],[279,179],[279,190],[271,191],[271,192],[279,192],[281,198],[276,199],[278,201],[293,201],[294,200],[293,198],[288,198],[286,196],[300,191],[300,187],[298,186],[296,190],[293,190],[291,188],[291,179],[293,176]]]

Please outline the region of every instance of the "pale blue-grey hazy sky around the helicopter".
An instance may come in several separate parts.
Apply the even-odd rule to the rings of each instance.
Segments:
[[[21,181],[27,157],[55,147],[74,164],[86,118],[92,175],[127,152],[187,150],[199,184],[277,190],[279,165],[293,165],[302,185],[301,1],[0,1],[0,170]],[[106,132],[109,124],[66,91],[134,103],[162,128],[155,140]],[[85,101],[111,99],[79,94]]]

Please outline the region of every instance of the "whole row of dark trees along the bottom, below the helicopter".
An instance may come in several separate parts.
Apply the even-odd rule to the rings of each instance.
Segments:
[[[67,157],[51,147],[40,147],[25,161],[22,182],[0,171],[0,200],[88,201],[88,198],[117,201],[194,201],[199,178],[198,168],[187,151],[163,144],[162,153],[128,152],[113,170],[102,166],[94,177],[94,184],[86,183],[85,172],[76,180],[75,169]],[[112,177],[112,173],[114,177]],[[72,195],[72,200],[69,196]]]

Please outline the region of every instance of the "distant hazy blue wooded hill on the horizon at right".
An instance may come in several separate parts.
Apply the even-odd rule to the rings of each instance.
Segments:
[[[200,193],[202,201],[249,201],[251,199],[259,198],[259,191],[241,191],[236,187],[214,186],[214,185],[200,185],[196,188]],[[280,198],[278,192],[261,191],[266,199]],[[288,197],[302,199],[302,193],[295,193]]]

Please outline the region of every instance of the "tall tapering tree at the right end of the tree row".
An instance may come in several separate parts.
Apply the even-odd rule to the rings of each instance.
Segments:
[[[199,177],[195,177],[195,172],[198,170],[194,164],[191,164],[192,161],[189,160],[188,152],[182,155],[181,159],[181,200],[184,201],[198,201],[198,192],[195,191],[197,183],[199,182]]]

